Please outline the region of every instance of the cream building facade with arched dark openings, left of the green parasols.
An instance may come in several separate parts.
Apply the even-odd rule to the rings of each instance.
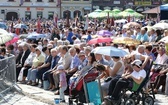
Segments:
[[[84,16],[91,12],[92,0],[62,0],[61,1],[61,17],[70,18]]]

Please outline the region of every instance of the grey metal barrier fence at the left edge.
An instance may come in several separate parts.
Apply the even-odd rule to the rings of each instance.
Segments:
[[[9,55],[5,59],[0,59],[0,97],[4,99],[3,94],[16,86],[15,56]]]

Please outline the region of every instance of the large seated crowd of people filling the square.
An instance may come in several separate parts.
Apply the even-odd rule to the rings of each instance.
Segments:
[[[85,24],[73,22],[70,27],[65,23],[58,26],[51,25],[51,21],[41,23],[40,32],[46,37],[39,40],[21,39],[14,44],[0,46],[0,59],[8,54],[16,56],[16,81],[31,86],[45,87],[46,90],[60,94],[62,102],[65,102],[64,93],[69,94],[69,85],[89,68],[96,66],[101,80],[103,96],[112,96],[112,100],[119,99],[119,92],[129,86],[128,78],[132,78],[137,84],[141,84],[146,76],[145,68],[148,61],[164,65],[168,62],[167,43],[160,39],[168,36],[168,30],[156,30],[147,27],[142,22],[139,26],[122,28],[124,24],[115,26],[106,25],[105,22],[89,22],[87,29]],[[20,30],[22,33],[32,33],[34,26],[28,25],[28,29]],[[130,37],[139,40],[141,44],[114,44],[108,46],[125,50],[128,55],[107,56],[94,53],[93,49],[99,46],[107,46],[106,43],[87,44],[92,36],[100,30],[108,30],[113,37]],[[15,30],[13,29],[13,32]],[[82,36],[86,35],[86,39]],[[157,46],[154,46],[156,44]],[[131,63],[132,62],[132,63]],[[151,81],[154,82],[154,91],[159,88],[168,95],[168,69],[158,70],[154,65],[151,68]],[[110,77],[110,79],[107,79]],[[124,78],[120,80],[119,78]],[[166,79],[167,78],[167,79]],[[49,87],[46,88],[46,83]]]

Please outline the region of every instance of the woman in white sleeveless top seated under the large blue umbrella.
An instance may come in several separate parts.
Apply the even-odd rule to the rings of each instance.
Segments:
[[[104,95],[107,95],[108,87],[109,87],[111,79],[116,76],[121,76],[125,70],[124,62],[121,60],[120,57],[116,56],[116,57],[112,57],[112,59],[114,61],[113,67],[110,68],[109,66],[105,66],[106,69],[100,71],[101,74],[99,78],[103,80],[101,82],[101,87],[102,87]]]

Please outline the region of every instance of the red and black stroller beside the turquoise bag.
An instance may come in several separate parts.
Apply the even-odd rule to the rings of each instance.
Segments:
[[[80,75],[73,83],[69,86],[69,105],[74,105],[73,100],[77,105],[86,103],[86,95],[84,92],[84,82],[91,82],[96,80],[98,77],[98,71],[95,67],[91,67],[85,73]],[[78,103],[79,102],[79,103]]]

